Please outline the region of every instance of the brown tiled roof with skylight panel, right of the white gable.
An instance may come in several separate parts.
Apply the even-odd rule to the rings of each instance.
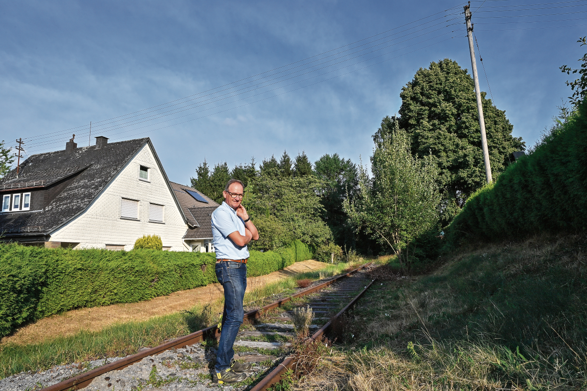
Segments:
[[[171,187],[176,193],[177,200],[180,203],[181,209],[191,226],[185,232],[183,239],[209,239],[212,237],[212,212],[220,204],[214,202],[210,197],[205,196],[202,192],[197,191],[189,186],[180,185],[176,182],[170,182]],[[201,202],[191,196],[187,191],[197,192],[208,203]]]

